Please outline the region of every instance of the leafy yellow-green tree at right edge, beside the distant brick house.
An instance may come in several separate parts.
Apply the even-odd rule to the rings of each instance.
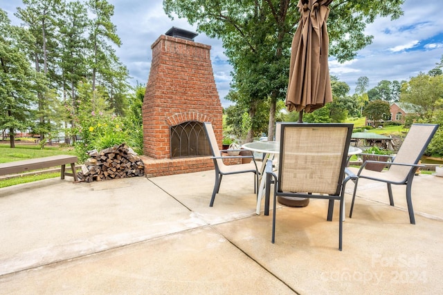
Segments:
[[[401,88],[401,102],[409,102],[417,113],[422,113],[430,121],[435,112],[442,110],[443,75],[430,76],[420,73],[404,83]]]

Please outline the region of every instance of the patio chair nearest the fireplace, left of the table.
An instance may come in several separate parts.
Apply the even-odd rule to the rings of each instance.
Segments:
[[[221,178],[223,178],[223,175],[229,175],[229,174],[238,174],[238,173],[254,173],[254,193],[257,192],[257,185],[258,185],[258,169],[257,169],[257,163],[255,162],[255,158],[253,156],[253,153],[251,152],[251,155],[228,155],[228,156],[221,156],[221,153],[224,152],[224,150],[219,150],[219,146],[217,144],[217,139],[215,138],[215,133],[213,129],[213,125],[209,122],[204,122],[204,128],[206,131],[206,135],[208,136],[210,150],[213,153],[213,156],[211,157],[214,160],[214,166],[215,166],[215,184],[214,184],[214,190],[213,190],[213,196],[210,199],[210,207],[213,207],[215,195],[219,193],[220,189],[220,183]],[[242,158],[252,158],[255,169],[251,167],[251,164],[233,164],[233,165],[226,165],[223,162],[223,159],[242,159]]]

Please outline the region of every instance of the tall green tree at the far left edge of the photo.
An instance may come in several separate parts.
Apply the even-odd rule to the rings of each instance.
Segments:
[[[30,125],[30,108],[37,73],[30,67],[24,44],[33,37],[27,30],[12,26],[0,9],[0,129],[8,129],[10,147],[15,147],[15,131]]]

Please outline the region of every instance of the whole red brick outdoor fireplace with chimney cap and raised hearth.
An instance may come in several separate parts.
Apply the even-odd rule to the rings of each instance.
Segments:
[[[143,162],[149,176],[214,169],[202,122],[222,140],[222,108],[210,46],[197,34],[172,28],[152,44],[143,102]]]

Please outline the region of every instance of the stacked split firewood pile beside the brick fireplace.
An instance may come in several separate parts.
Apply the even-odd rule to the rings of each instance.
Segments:
[[[143,161],[126,144],[116,144],[100,152],[89,151],[88,155],[89,159],[82,165],[82,171],[78,172],[80,181],[93,182],[144,175]]]

